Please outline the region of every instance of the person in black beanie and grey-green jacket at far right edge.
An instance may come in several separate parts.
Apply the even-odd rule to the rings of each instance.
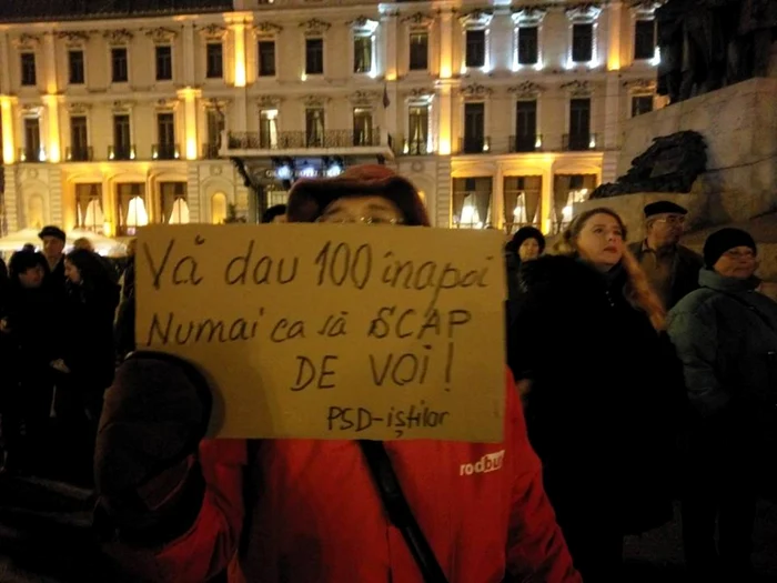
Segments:
[[[710,234],[700,289],[668,316],[694,412],[682,514],[698,581],[750,580],[757,492],[777,485],[777,303],[757,291],[757,251],[740,229]]]

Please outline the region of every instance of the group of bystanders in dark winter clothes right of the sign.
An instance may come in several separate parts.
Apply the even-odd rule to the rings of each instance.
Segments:
[[[625,245],[617,213],[593,209],[553,255],[532,227],[507,245],[508,360],[586,581],[617,580],[623,535],[668,522],[676,497],[692,579],[749,581],[756,501],[777,494],[777,303],[747,232],[714,232],[702,257],[679,244],[686,214],[646,205]]]

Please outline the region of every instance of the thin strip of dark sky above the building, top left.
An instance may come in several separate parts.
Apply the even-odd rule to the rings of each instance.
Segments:
[[[231,10],[231,0],[0,0],[0,21]]]

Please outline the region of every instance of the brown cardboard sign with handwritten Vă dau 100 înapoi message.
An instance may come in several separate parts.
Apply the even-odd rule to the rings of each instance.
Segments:
[[[137,341],[210,376],[222,438],[503,434],[502,234],[150,225]]]

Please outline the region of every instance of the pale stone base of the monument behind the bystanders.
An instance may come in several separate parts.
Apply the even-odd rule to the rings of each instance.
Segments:
[[[624,124],[618,175],[628,171],[632,160],[647,150],[654,138],[694,130],[705,138],[708,170],[696,180],[690,194],[658,198],[685,197],[685,203],[677,202],[696,209],[690,219],[698,225],[747,221],[777,211],[775,103],[777,79],[759,78],[633,118]],[[629,197],[632,201],[639,197],[649,197],[648,202],[657,200],[653,194],[627,194],[592,203],[613,208],[638,204],[616,202]]]

